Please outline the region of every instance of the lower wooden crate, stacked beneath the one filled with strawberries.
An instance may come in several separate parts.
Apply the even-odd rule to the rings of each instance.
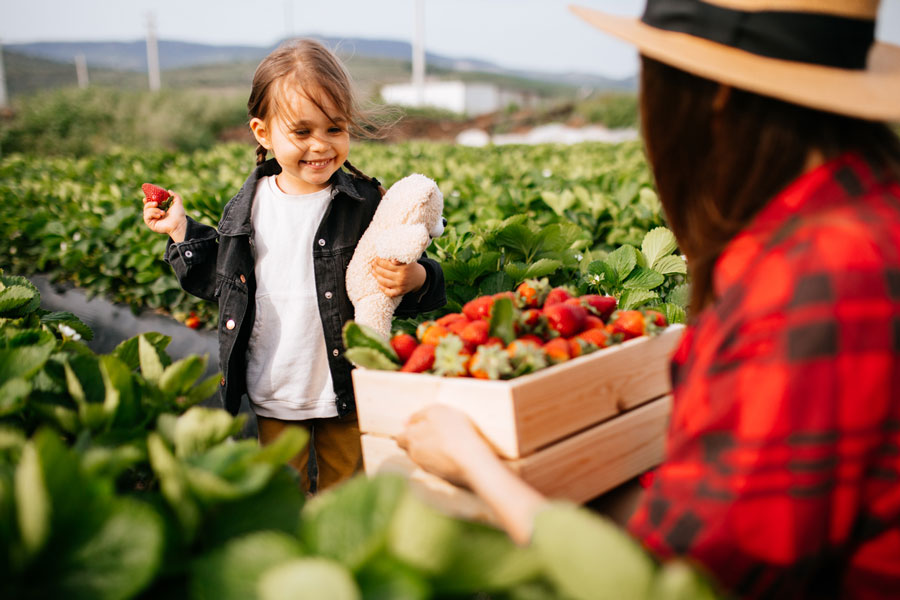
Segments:
[[[544,495],[585,502],[659,464],[671,396],[631,409],[543,450],[506,464]],[[448,514],[496,523],[471,492],[420,469],[391,438],[362,436],[366,473],[399,473],[429,504]]]

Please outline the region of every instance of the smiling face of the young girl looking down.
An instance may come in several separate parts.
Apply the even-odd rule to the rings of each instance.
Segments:
[[[323,96],[323,113],[299,90],[279,90],[290,117],[254,118],[250,129],[257,141],[275,155],[281,173],[275,181],[286,194],[311,194],[329,185],[350,153],[348,123],[341,111]],[[329,118],[328,115],[331,115]]]

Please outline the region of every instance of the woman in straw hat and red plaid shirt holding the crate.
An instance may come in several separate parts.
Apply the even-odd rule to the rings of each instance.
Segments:
[[[641,115],[692,281],[667,451],[629,531],[744,597],[900,597],[900,48],[876,1],[573,9],[642,55]],[[399,442],[527,542],[548,501],[463,415]]]

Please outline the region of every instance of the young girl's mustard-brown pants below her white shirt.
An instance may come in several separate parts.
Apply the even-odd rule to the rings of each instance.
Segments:
[[[359,442],[359,422],[356,414],[329,419],[283,421],[270,417],[256,417],[259,443],[265,446],[275,440],[285,427],[302,427],[310,434],[309,444],[288,464],[300,474],[304,492],[326,490],[351,477],[362,467],[362,447]],[[309,477],[309,447],[314,448],[317,478],[311,488]]]

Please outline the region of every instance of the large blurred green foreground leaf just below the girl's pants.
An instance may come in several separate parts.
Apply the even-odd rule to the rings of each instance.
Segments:
[[[300,539],[312,553],[356,570],[383,551],[405,490],[399,477],[354,477],[307,502]]]

